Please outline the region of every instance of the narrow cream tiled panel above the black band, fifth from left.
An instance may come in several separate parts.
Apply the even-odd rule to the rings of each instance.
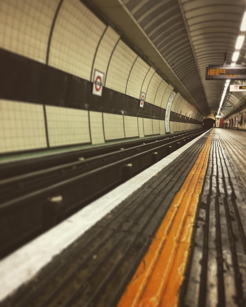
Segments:
[[[126,90],[127,95],[140,98],[143,80],[148,71],[149,65],[138,56],[128,79]]]

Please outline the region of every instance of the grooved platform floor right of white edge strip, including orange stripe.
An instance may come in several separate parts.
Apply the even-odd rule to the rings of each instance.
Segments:
[[[245,144],[230,131],[207,132],[0,306],[166,307],[170,302],[170,306],[182,307],[246,306],[245,153]],[[205,171],[197,175],[200,166]],[[194,194],[200,193],[193,201],[187,195],[191,185]],[[182,197],[177,202],[179,193]],[[179,212],[184,216],[183,226]],[[162,235],[162,223],[169,216],[173,220]],[[183,229],[182,235],[175,236],[178,228]],[[183,272],[180,286],[170,292],[177,285],[172,287],[174,278],[169,278],[153,294],[147,283],[139,283],[137,291],[143,299],[137,302],[131,285],[142,276],[150,278],[162,253],[165,263],[176,261],[165,250],[168,240],[174,243],[172,255],[181,255],[176,257],[181,262],[165,274],[175,277],[175,270]],[[157,260],[146,260],[155,242]],[[154,263],[153,268],[148,269],[148,261]],[[155,273],[160,282],[166,267],[161,265]]]

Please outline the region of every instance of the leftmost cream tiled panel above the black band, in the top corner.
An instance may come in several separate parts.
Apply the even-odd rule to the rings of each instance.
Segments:
[[[45,63],[59,0],[0,0],[0,48]]]

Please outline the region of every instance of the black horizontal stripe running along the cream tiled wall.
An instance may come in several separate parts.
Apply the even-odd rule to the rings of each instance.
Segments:
[[[0,99],[164,120],[165,109],[154,104],[139,108],[139,99],[107,87],[92,95],[92,82],[3,49],[0,58]],[[202,124],[174,112],[170,120]]]

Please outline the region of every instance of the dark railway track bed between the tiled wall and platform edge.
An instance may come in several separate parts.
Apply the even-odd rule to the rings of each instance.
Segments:
[[[0,166],[0,257],[52,228],[204,130]],[[58,160],[58,161],[57,161]],[[59,163],[59,165],[57,165]],[[30,170],[35,170],[31,171]],[[14,176],[17,174],[16,176]]]

